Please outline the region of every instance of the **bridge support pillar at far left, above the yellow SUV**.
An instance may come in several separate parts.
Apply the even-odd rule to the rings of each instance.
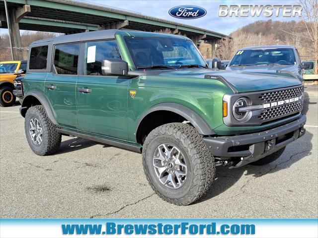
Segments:
[[[23,5],[18,9],[12,10],[9,12],[9,26],[10,26],[10,38],[13,48],[13,59],[14,60],[23,60],[23,54],[21,50],[21,37],[20,37],[20,28],[19,21],[23,16],[31,11],[30,5]]]

